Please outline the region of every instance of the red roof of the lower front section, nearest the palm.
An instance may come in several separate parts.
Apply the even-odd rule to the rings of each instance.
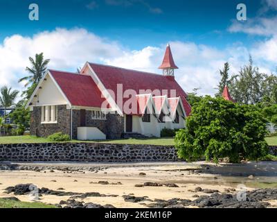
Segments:
[[[101,108],[105,101],[91,76],[49,70],[71,105]]]

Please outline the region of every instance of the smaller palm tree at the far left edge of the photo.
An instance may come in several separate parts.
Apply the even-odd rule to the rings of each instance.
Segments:
[[[19,91],[12,90],[6,86],[1,87],[0,89],[0,105],[4,108],[4,118],[3,122],[6,123],[6,110],[12,105],[15,105],[15,98],[19,94]],[[4,128],[5,130],[5,128]],[[5,134],[5,131],[4,131]]]

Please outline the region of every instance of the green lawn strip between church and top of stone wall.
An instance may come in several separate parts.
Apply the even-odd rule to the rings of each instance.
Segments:
[[[172,146],[174,139],[117,139],[117,140],[105,140],[105,141],[84,141],[87,143],[103,143],[103,144],[146,144],[146,145],[161,145]],[[21,137],[0,137],[0,144],[30,144],[30,143],[46,143],[50,142],[48,139],[33,137],[33,136],[21,136]],[[73,140],[71,142],[80,142]]]

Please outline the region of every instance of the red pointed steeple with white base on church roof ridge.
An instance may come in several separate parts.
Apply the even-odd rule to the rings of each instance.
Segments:
[[[166,53],[163,57],[163,63],[159,67],[159,69],[163,69],[163,76],[174,76],[174,70],[179,69],[173,60],[173,56],[170,49],[170,44],[166,47]]]

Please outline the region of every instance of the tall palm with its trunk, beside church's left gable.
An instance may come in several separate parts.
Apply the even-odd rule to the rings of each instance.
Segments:
[[[27,89],[23,92],[26,99],[29,99],[31,94],[33,94],[35,87],[42,79],[42,76],[47,69],[47,65],[50,62],[50,60],[48,59],[44,60],[43,53],[35,54],[35,59],[29,57],[29,60],[31,66],[26,67],[26,71],[28,72],[29,76],[25,76],[24,78],[19,79],[19,83],[27,81],[25,85]]]

